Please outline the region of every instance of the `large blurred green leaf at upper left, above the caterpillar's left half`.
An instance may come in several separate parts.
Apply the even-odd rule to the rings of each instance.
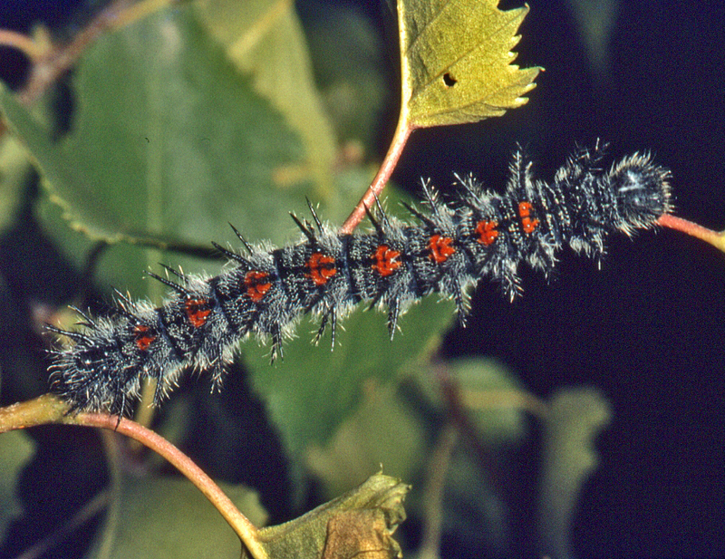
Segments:
[[[5,116],[53,199],[95,236],[150,232],[208,246],[231,239],[233,222],[250,238],[279,242],[289,230],[281,219],[313,193],[312,185],[277,180],[304,160],[302,146],[193,14],[190,6],[167,9],[93,43],[73,74],[75,119],[62,145],[7,92]],[[124,247],[113,258],[102,279],[138,294],[148,289],[140,284],[144,264],[160,257],[144,263],[138,249]]]

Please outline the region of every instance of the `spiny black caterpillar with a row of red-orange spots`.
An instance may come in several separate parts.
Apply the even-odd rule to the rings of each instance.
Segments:
[[[213,244],[230,263],[220,275],[149,274],[170,288],[161,306],[118,293],[109,315],[79,311],[81,329],[49,326],[72,342],[51,351],[52,389],[73,412],[122,415],[145,379],[157,382],[157,405],[188,369],[207,370],[218,389],[249,335],[271,338],[273,359],[282,356],[304,313],[321,317],[315,340],[330,326],[334,347],[337,324],[360,303],[387,309],[392,338],[401,314],[428,294],[452,298],[461,321],[469,287],[484,277],[513,300],[521,265],[548,275],[565,245],[600,257],[608,234],[632,236],[672,210],[670,172],[649,155],[635,153],[608,170],[603,157],[599,144],[577,149],[547,183],[532,177],[519,149],[502,194],[457,176],[457,197],[447,203],[423,182],[427,211],[409,206],[412,224],[389,217],[378,202],[366,233],[336,233],[312,204],[312,223],[292,215],[303,236],[294,245],[253,246],[235,229],[246,252]]]

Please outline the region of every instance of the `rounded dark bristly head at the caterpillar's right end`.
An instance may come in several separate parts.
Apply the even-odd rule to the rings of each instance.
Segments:
[[[670,171],[652,164],[649,155],[634,154],[623,159],[609,173],[614,193],[618,228],[627,235],[648,228],[672,211]]]

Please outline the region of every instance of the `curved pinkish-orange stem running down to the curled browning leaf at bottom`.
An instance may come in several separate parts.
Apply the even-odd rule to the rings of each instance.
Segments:
[[[121,418],[119,420],[115,416],[106,414],[80,413],[75,417],[67,418],[65,422],[73,425],[115,430],[122,435],[131,437],[131,439],[138,440],[144,446],[151,448],[160,456],[166,458],[179,472],[188,477],[189,481],[217,508],[228,525],[237,533],[252,557],[254,559],[267,559],[266,551],[259,543],[256,526],[247,519],[247,516],[239,512],[237,506],[214,483],[211,477],[208,477],[204,470],[168,440],[130,419]]]

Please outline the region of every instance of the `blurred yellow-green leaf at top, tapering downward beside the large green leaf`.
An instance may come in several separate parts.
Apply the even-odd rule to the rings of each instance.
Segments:
[[[285,115],[302,140],[305,166],[328,197],[335,160],[333,128],[314,86],[302,26],[290,0],[196,0],[199,20],[224,46],[229,60],[250,75],[255,91]]]

